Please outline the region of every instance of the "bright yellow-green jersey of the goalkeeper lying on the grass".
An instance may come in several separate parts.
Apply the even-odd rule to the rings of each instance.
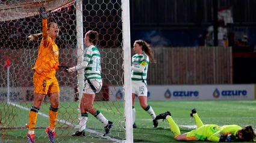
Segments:
[[[219,142],[220,138],[223,138],[227,135],[236,136],[236,133],[242,127],[237,125],[225,125],[222,127],[217,126],[216,124],[205,124],[204,126],[199,127],[198,129],[192,130],[187,133],[187,141],[211,141]]]

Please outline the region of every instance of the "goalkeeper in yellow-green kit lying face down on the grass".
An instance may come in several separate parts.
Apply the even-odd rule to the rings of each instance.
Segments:
[[[201,119],[198,117],[196,109],[192,109],[190,116],[195,118],[198,129],[184,133],[183,135],[181,135],[179,127],[172,120],[169,111],[157,115],[155,120],[166,119],[176,141],[230,142],[233,139],[238,139],[240,141],[254,141],[254,137],[256,136],[252,126],[242,128],[235,124],[225,125],[222,127],[219,127],[216,124],[204,125]]]

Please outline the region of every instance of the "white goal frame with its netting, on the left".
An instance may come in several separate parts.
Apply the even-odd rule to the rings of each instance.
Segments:
[[[33,103],[33,94],[31,94],[31,91],[34,92],[32,67],[36,61],[40,44],[38,41],[28,41],[26,37],[42,31],[42,20],[38,13],[40,7],[51,10],[51,21],[58,25],[61,24],[59,25],[61,34],[56,42],[60,50],[60,64],[73,66],[82,62],[86,48],[84,46],[84,34],[91,29],[99,32],[102,79],[105,80],[105,87],[102,89],[102,93],[98,95],[98,101],[102,102],[99,103],[99,110],[102,110],[104,115],[108,114],[106,116],[110,118],[109,120],[116,121],[114,132],[111,130],[112,134],[104,138],[101,136],[102,124],[95,121],[93,115],[90,115],[89,120],[93,120],[92,122],[97,123],[97,126],[93,128],[92,123],[89,123],[89,137],[92,138],[89,141],[94,142],[93,139],[97,139],[95,135],[92,135],[94,133],[96,136],[101,136],[99,138],[102,139],[99,140],[101,142],[133,142],[129,0],[7,0],[0,2],[0,33],[4,35],[0,42],[0,52],[4,53],[0,57],[0,73],[2,75],[0,95],[7,93],[7,98],[0,97],[0,101],[4,101],[5,104],[2,105],[11,108],[12,112],[19,113],[11,112],[9,117],[1,118],[0,128],[6,130],[3,134],[4,139],[13,142],[25,141],[23,133],[27,132],[27,126],[23,127],[22,124],[27,123],[28,113]],[[88,19],[91,22],[88,22]],[[10,58],[8,70],[4,68],[3,64],[7,58]],[[123,70],[122,64],[124,65]],[[57,71],[56,77],[61,90],[60,104],[62,102],[67,104],[60,105],[59,109],[71,108],[70,111],[74,111],[68,114],[59,111],[59,114],[63,115],[63,118],[58,118],[58,123],[61,123],[59,129],[63,130],[57,141],[65,142],[67,141],[65,140],[66,136],[77,129],[78,118],[75,115],[80,116],[76,109],[80,107],[80,99],[83,96],[84,70],[70,75],[64,75]],[[62,79],[64,81],[61,81]],[[78,89],[78,92],[75,91],[76,93],[73,92],[75,86]],[[119,100],[110,100],[109,97],[102,98],[102,95],[115,96],[111,94],[111,91],[107,91],[108,86],[123,86],[124,102],[120,105],[124,105],[124,107],[118,107]],[[79,102],[73,100],[74,94],[78,94]],[[71,103],[75,103],[76,106],[72,106]],[[40,118],[37,119],[36,132],[43,130],[48,124],[45,122],[49,120],[48,109],[49,104],[46,101],[45,106],[39,111]],[[68,109],[66,111],[69,112]],[[10,112],[10,109],[0,113],[6,114],[6,112]],[[10,120],[13,118],[12,114],[16,117]],[[123,120],[125,124],[123,124]],[[8,121],[10,124],[7,123]],[[15,132],[14,129],[19,129],[19,131]],[[47,141],[43,132],[45,131],[43,130],[42,134],[36,133],[38,135],[36,135],[37,141]],[[10,135],[14,138],[11,138]],[[87,142],[87,140],[77,139],[68,141]]]

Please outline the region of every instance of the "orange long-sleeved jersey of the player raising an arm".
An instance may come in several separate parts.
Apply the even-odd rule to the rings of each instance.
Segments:
[[[46,19],[43,19],[43,26],[47,27]],[[43,31],[43,33],[47,34],[47,31]],[[46,40],[43,39],[40,43],[33,69],[42,76],[54,78],[58,65],[58,46],[51,37],[47,36]]]

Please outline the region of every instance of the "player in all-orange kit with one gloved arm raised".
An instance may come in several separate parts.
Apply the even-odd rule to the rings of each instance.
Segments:
[[[49,135],[51,142],[54,142],[55,124],[58,115],[58,104],[60,100],[60,88],[58,86],[57,78],[55,77],[55,70],[64,70],[68,68],[59,65],[58,62],[58,46],[55,44],[55,38],[58,36],[58,25],[56,23],[49,23],[47,19],[50,11],[46,12],[45,8],[41,7],[39,10],[40,16],[43,19],[43,31],[40,34],[32,34],[28,38],[31,40],[41,41],[39,53],[36,64],[34,65],[34,103],[29,114],[29,124],[27,138],[29,142],[34,142],[34,127],[36,126],[37,113],[42,105],[45,96],[48,95],[51,102],[49,108],[49,124],[46,128],[46,133]]]

